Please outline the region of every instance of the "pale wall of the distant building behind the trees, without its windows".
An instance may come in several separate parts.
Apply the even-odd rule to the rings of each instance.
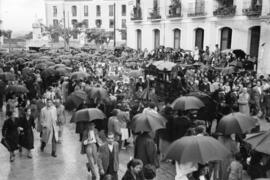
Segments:
[[[126,0],[45,0],[46,7],[46,25],[52,25],[54,19],[65,21],[66,27],[72,27],[72,20],[82,22],[87,19],[89,22],[89,28],[96,28],[96,19],[102,21],[101,29],[106,31],[113,31],[114,28],[109,27],[110,19],[114,19],[113,16],[109,16],[109,5],[116,3],[116,29],[122,29],[122,19],[126,21],[130,18],[128,11],[126,10],[126,16],[122,16],[122,5],[127,6]],[[77,16],[72,16],[72,6],[77,6]],[[84,6],[88,6],[88,16],[84,16]],[[96,16],[96,6],[101,6],[101,16]],[[53,6],[57,7],[57,17],[53,17]],[[65,14],[65,17],[64,17]],[[75,40],[76,41],[76,40]],[[77,40],[79,41],[79,40]],[[126,41],[122,40],[122,34],[120,31],[116,31],[116,41],[118,44],[123,44]]]

